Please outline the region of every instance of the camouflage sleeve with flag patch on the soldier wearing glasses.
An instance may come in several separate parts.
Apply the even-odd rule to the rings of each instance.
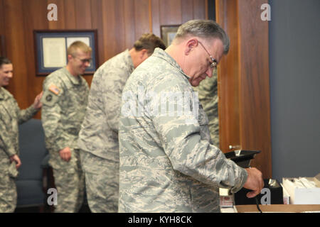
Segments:
[[[58,89],[58,94],[50,91],[52,86],[55,90]],[[56,152],[68,146],[68,141],[63,138],[61,127],[61,99],[63,99],[63,89],[60,82],[57,79],[47,78],[43,82],[41,121],[46,136],[46,145]]]

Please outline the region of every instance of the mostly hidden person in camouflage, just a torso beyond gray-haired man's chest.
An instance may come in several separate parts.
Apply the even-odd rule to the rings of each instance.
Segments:
[[[198,92],[199,101],[208,116],[208,127],[213,145],[219,148],[217,70],[213,70],[213,76],[201,81],[198,87],[193,87],[193,91]]]

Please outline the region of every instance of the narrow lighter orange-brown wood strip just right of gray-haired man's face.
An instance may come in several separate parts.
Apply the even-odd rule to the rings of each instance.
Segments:
[[[238,59],[238,8],[232,1],[216,1],[217,21],[228,33],[230,50],[218,66],[218,111],[220,149],[230,150],[229,145],[240,145],[239,121],[239,59]],[[226,18],[228,12],[228,19]]]

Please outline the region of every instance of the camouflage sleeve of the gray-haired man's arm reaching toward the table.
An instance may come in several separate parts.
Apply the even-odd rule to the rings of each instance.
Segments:
[[[168,86],[169,87],[169,86]],[[170,86],[172,87],[172,86]],[[194,96],[194,93],[179,87],[183,98]],[[189,93],[189,94],[188,94]],[[188,175],[200,182],[214,187],[230,188],[231,192],[238,192],[247,179],[247,172],[231,160],[208,140],[201,139],[201,126],[198,122],[195,106],[186,109],[186,99],[176,101],[176,109],[184,111],[174,114],[156,114],[152,119],[154,127],[159,133],[164,152],[169,157],[174,170]],[[161,102],[153,101],[151,109],[161,109]],[[172,103],[161,105],[172,105]]]

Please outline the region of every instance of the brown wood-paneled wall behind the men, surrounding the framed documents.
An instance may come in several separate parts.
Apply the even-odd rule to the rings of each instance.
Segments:
[[[58,21],[48,21],[48,4],[58,6]],[[206,0],[0,0],[0,35],[14,64],[7,87],[21,108],[33,103],[43,79],[37,77],[33,30],[97,29],[98,64],[126,48],[143,33],[160,37],[161,25],[207,18]],[[92,75],[85,79],[90,84]],[[36,118],[40,118],[40,113]]]

